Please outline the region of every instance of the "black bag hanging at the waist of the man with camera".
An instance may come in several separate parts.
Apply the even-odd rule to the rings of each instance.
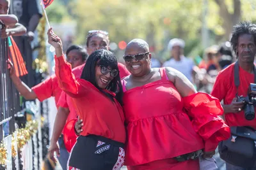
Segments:
[[[240,167],[256,167],[256,132],[248,127],[230,127],[232,136],[219,143],[220,158]]]

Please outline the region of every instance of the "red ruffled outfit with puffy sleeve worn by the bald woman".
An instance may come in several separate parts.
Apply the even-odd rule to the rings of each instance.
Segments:
[[[124,87],[127,130],[125,164],[128,169],[199,169],[197,160],[172,159],[204,148],[215,150],[230,137],[229,127],[218,117],[220,101],[208,94],[181,97],[165,73],[161,80],[134,89]]]

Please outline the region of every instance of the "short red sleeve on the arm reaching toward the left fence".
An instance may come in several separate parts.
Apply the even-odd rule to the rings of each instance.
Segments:
[[[52,85],[52,77],[53,76],[32,87],[33,92],[35,92],[40,102],[53,96],[54,87]]]

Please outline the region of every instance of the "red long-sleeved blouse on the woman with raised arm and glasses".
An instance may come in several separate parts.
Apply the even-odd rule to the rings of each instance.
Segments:
[[[124,112],[118,101],[111,101],[92,83],[76,80],[63,56],[55,57],[55,63],[60,88],[72,97],[77,114],[84,121],[81,135],[95,134],[125,143]],[[108,90],[105,92],[115,95]]]

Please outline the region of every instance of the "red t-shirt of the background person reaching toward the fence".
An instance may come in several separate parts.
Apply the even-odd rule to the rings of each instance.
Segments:
[[[35,92],[36,97],[40,102],[48,99],[49,97],[54,97],[56,106],[62,92],[55,75],[52,75],[46,80],[42,81],[42,83],[35,85],[32,87],[32,90]]]

